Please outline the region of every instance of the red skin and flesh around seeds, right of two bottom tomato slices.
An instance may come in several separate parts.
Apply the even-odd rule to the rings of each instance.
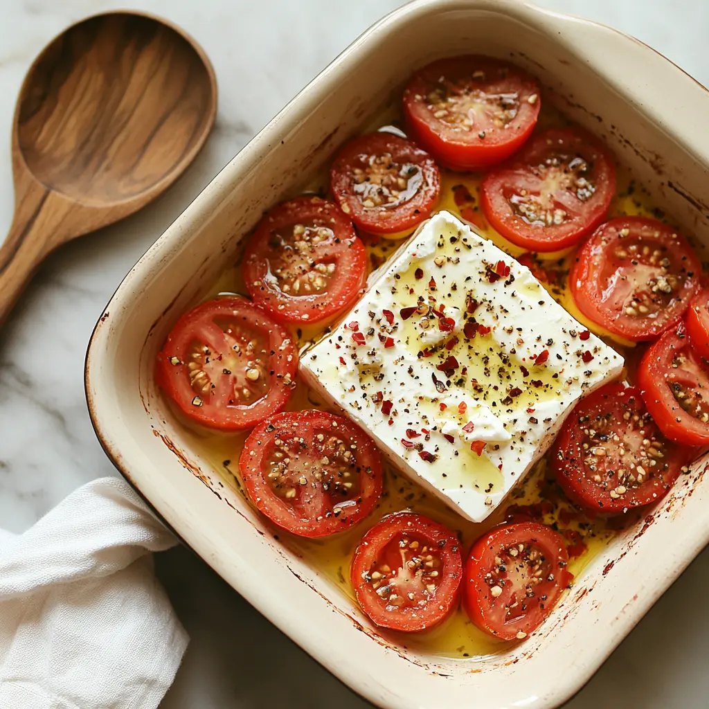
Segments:
[[[525,594],[522,596],[523,600],[518,601],[523,608],[525,605],[528,608],[524,610],[523,615],[507,621],[503,605],[509,602],[511,594],[515,592],[514,578],[510,579],[509,576],[509,566],[522,556],[518,549],[520,544],[533,545],[542,552],[549,562],[553,577],[549,581],[549,577],[545,576],[544,580],[534,586],[530,584],[534,595]],[[510,548],[518,552],[515,557],[506,554],[506,550]],[[527,549],[523,553],[526,554]],[[506,576],[500,574],[502,579],[508,581],[504,586],[495,584],[488,575],[500,568],[495,562],[496,557],[503,559],[506,568],[506,571],[502,572]],[[474,543],[465,564],[462,590],[463,605],[468,617],[489,635],[501,640],[523,640],[542,625],[564,588],[569,586],[574,578],[566,570],[568,563],[569,554],[564,537],[551,527],[536,522],[518,522],[493,527]],[[498,596],[493,594],[494,586],[501,590]],[[517,590],[521,593],[521,589]],[[542,596],[545,596],[543,600]],[[519,598],[520,596],[516,596],[515,600]]]

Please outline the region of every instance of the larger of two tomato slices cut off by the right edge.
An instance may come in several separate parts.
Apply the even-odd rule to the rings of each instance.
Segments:
[[[647,410],[666,437],[688,446],[709,445],[709,364],[683,325],[649,347],[637,381]]]

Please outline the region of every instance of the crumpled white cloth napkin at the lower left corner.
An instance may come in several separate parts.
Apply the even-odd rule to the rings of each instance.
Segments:
[[[176,543],[113,478],[0,530],[0,708],[157,707],[188,638],[150,552]]]

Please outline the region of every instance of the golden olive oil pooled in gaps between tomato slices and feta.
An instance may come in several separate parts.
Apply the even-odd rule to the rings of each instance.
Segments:
[[[379,121],[369,126],[369,130],[376,130],[379,125],[395,123],[398,116],[389,111]],[[545,130],[557,125],[566,125],[568,122],[562,116],[554,112],[548,106],[542,108],[540,114],[539,127],[537,130]],[[365,131],[366,132],[366,131]],[[325,194],[324,186],[327,184],[327,170],[329,165],[318,173],[313,181],[306,185],[306,189],[320,191]],[[498,235],[484,219],[479,207],[479,187],[481,182],[479,174],[455,174],[442,170],[442,194],[439,208],[447,209],[452,213],[468,220],[478,228],[487,238],[491,239],[503,250],[513,257],[520,257],[523,250],[511,244]],[[461,187],[465,191],[462,191]],[[467,192],[467,194],[465,194]],[[469,196],[471,199],[467,200]],[[642,187],[636,184],[627,174],[623,167],[618,169],[618,192],[610,207],[609,216],[619,216],[622,214],[641,214],[654,216],[655,218],[665,218],[664,213],[653,208],[649,196]],[[379,267],[389,259],[391,255],[401,246],[401,242],[387,240],[384,238],[365,237],[367,252],[370,260],[370,269]],[[620,350],[626,356],[630,354],[632,342],[613,337],[602,328],[585,320],[581,313],[574,306],[569,296],[567,288],[567,276],[569,272],[570,259],[573,258],[573,250],[560,252],[557,254],[545,254],[542,259],[530,260],[535,275],[545,284],[550,294],[557,299],[574,318],[586,325],[594,333],[603,337],[604,340],[616,350]],[[545,281],[546,279],[546,281]],[[206,294],[206,298],[213,298],[220,293],[224,294],[244,294],[245,287],[241,277],[240,268],[228,269],[214,288]],[[320,323],[316,326],[298,330],[298,338],[301,345],[318,340],[325,332],[327,323]],[[630,361],[635,359],[630,356]],[[632,364],[630,365],[632,368]],[[633,372],[630,372],[632,378]],[[302,382],[298,382],[298,389],[291,398],[288,408],[291,410],[303,408],[324,408],[320,401],[314,398],[313,393],[307,389]],[[180,417],[180,420],[184,420]],[[238,461],[246,434],[220,435],[213,432],[196,430],[189,423],[186,427],[194,437],[194,445],[206,452],[208,459],[213,462],[215,471],[220,474],[225,484],[229,484],[233,489],[244,494],[238,479]],[[225,462],[227,464],[225,465]],[[605,525],[603,520],[584,520],[575,515],[574,510],[566,501],[555,499],[552,509],[549,510],[549,501],[543,495],[548,491],[549,485],[546,482],[546,462],[542,460],[527,480],[520,486],[520,489],[510,493],[510,499],[504,503],[496,513],[482,524],[469,523],[448,510],[440,501],[426,495],[423,489],[417,484],[409,481],[405,476],[398,474],[390,466],[385,467],[384,495],[379,501],[379,505],[369,518],[354,529],[343,532],[334,537],[323,540],[306,540],[294,537],[287,532],[278,530],[279,542],[292,549],[296,554],[303,557],[315,569],[324,574],[331,583],[340,589],[345,596],[354,600],[354,593],[349,581],[350,564],[354,549],[364,533],[378,522],[382,516],[398,510],[410,509],[448,525],[452,530],[459,532],[462,539],[464,552],[467,552],[474,540],[493,525],[504,520],[506,510],[510,505],[535,510],[537,520],[547,524],[557,525],[567,535],[576,534],[581,539],[579,549],[585,548],[579,557],[571,559],[569,571],[576,577],[578,583],[579,576],[584,568],[608,543],[608,540],[615,532]],[[546,504],[546,507],[544,506]],[[542,510],[540,511],[540,507]],[[630,520],[629,520],[630,522]],[[275,532],[275,530],[274,530]],[[471,658],[499,652],[510,646],[510,642],[496,640],[484,632],[478,630],[467,618],[464,611],[459,608],[452,617],[442,626],[428,632],[418,634],[403,634],[396,632],[380,631],[382,637],[395,642],[401,647],[406,647],[414,652],[439,655],[440,657]]]

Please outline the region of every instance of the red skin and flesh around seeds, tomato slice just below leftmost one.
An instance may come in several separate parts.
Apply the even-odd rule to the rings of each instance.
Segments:
[[[313,451],[323,450],[322,447],[318,447],[316,441],[316,436],[319,434],[323,434],[326,440],[331,436],[340,437],[348,449],[356,446],[354,455],[348,460],[353,460],[352,465],[356,467],[354,472],[359,476],[360,488],[354,505],[348,504],[340,510],[340,514],[333,513],[337,505],[328,508],[328,502],[332,501],[332,496],[335,494],[335,485],[331,481],[328,482],[328,489],[331,491],[331,497],[328,499],[325,486],[322,486],[318,480],[315,482],[309,480],[304,486],[304,494],[312,495],[313,507],[307,509],[308,503],[305,502],[303,508],[298,510],[296,504],[289,502],[287,497],[281,498],[274,493],[267,477],[269,454],[279,437],[284,439],[286,444],[292,436],[297,436],[303,442],[305,446],[303,451],[298,451],[294,456],[296,459],[303,458],[307,461],[302,469],[296,468],[299,472],[307,470],[311,463],[313,464],[311,469],[315,469],[322,452],[311,460],[308,451],[311,451],[313,456],[315,455]],[[340,463],[341,466],[346,464]],[[286,411],[263,421],[251,432],[245,442],[239,459],[239,470],[244,487],[259,512],[266,515],[281,529],[309,538],[333,535],[359,523],[376,506],[383,485],[379,452],[367,433],[342,416],[316,409]],[[316,488],[318,485],[320,488]],[[294,483],[294,486],[298,484]]]

